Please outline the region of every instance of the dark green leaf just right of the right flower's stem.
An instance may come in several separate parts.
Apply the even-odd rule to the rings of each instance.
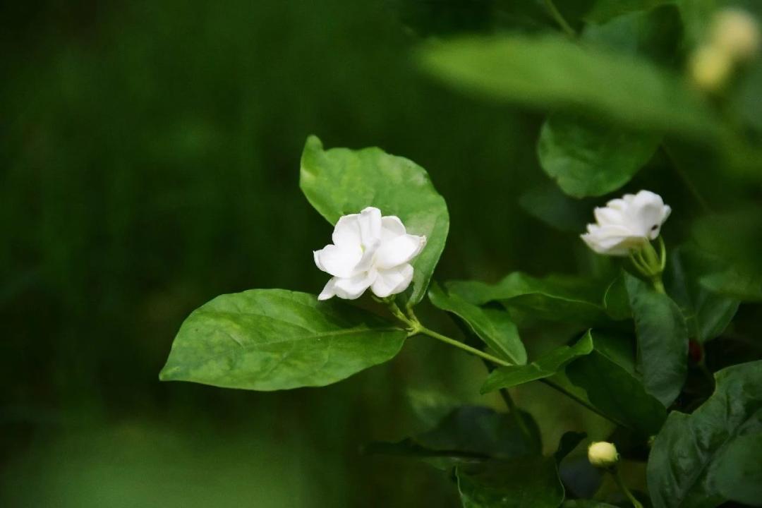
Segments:
[[[737,299],[712,292],[700,283],[712,269],[712,260],[686,248],[675,249],[669,258],[669,295],[685,316],[688,335],[701,343],[719,337],[738,311]]]

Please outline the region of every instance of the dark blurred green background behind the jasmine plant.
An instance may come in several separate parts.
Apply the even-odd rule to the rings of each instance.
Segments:
[[[491,2],[463,4],[459,23],[485,28]],[[331,227],[298,188],[311,133],[427,168],[452,222],[442,279],[590,263],[573,229],[586,216],[559,233],[519,205],[549,184],[542,117],[421,75],[421,34],[401,11],[416,13],[399,7],[0,8],[0,506],[456,506],[438,471],[360,447],[421,430],[411,401],[431,391],[502,409],[479,398],[484,367],[458,351],[417,338],[321,389],[158,382],[181,321],[213,296],[322,288],[311,251]],[[670,178],[657,160],[628,189]],[[679,210],[690,197],[674,187]],[[543,386],[515,395],[540,411],[550,448],[600,425]]]

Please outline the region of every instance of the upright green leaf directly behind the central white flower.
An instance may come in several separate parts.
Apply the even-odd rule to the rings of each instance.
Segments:
[[[409,296],[411,304],[421,301],[450,228],[447,205],[424,168],[377,148],[324,150],[317,137],[309,136],[299,187],[331,224],[376,206],[385,216],[398,216],[411,235],[425,235],[426,247],[412,262],[415,273]]]

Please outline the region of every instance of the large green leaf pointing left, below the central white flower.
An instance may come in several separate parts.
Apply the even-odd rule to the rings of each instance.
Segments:
[[[262,391],[324,386],[392,359],[405,337],[345,302],[251,289],[192,312],[159,377]]]

